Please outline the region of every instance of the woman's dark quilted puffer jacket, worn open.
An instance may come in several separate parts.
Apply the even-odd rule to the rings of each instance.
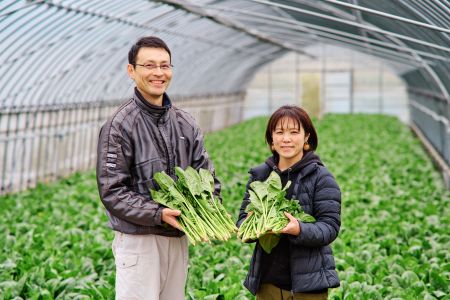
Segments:
[[[298,236],[289,236],[290,267],[292,292],[319,291],[339,286],[335,270],[335,262],[330,248],[341,225],[341,192],[336,180],[322,164],[319,157],[308,152],[302,160],[300,172],[291,178],[294,185],[293,199],[299,200],[306,213],[316,218],[315,223],[302,223]],[[264,181],[272,170],[276,170],[274,158],[269,158],[264,164],[252,168],[247,184],[244,201],[239,213],[237,225],[245,220],[245,208],[249,203],[248,188],[252,181]],[[261,284],[262,248],[256,244],[250,269],[244,286],[254,295]]]

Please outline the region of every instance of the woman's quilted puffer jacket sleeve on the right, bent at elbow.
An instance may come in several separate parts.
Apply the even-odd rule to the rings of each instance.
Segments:
[[[321,168],[313,196],[314,223],[300,222],[300,234],[289,235],[291,243],[304,247],[322,247],[331,244],[341,226],[341,191],[334,177]]]

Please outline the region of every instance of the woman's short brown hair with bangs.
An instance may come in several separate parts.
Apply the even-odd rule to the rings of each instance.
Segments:
[[[278,156],[278,153],[271,148],[273,143],[272,133],[275,131],[278,122],[283,118],[294,120],[299,128],[303,128],[305,131],[305,136],[309,134],[308,144],[310,148],[308,151],[314,151],[317,149],[319,140],[317,138],[316,129],[314,128],[308,113],[296,105],[283,105],[272,114],[266,127],[266,142],[275,156]]]

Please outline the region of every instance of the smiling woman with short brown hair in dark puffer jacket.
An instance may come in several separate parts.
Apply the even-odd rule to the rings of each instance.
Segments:
[[[340,227],[339,186],[320,158],[316,130],[297,106],[282,106],[270,117],[266,142],[273,153],[252,168],[237,225],[245,220],[249,184],[264,181],[271,171],[283,183],[291,181],[286,198],[297,199],[316,222],[302,223],[285,212],[289,223],[270,254],[256,244],[245,287],[256,299],[327,299],[328,288],[339,286],[330,243]]]

